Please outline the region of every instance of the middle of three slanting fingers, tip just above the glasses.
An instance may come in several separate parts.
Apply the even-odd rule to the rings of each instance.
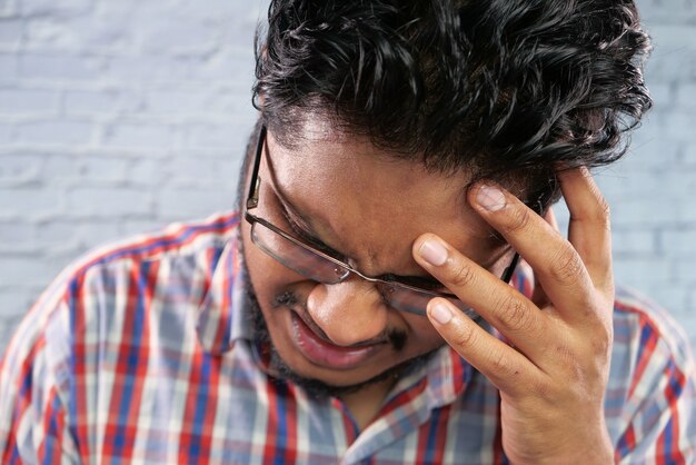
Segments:
[[[432,234],[414,243],[416,261],[535,363],[549,332],[545,315],[514,287]]]

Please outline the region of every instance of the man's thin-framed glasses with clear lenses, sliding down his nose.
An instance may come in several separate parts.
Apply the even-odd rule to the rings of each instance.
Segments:
[[[349,264],[331,257],[321,250],[317,250],[266,219],[251,214],[251,210],[259,205],[259,189],[261,186],[259,167],[261,165],[261,154],[265,144],[266,126],[261,126],[245,209],[245,219],[251,226],[251,241],[257,247],[287,268],[317,283],[335,285],[345,281],[350,275],[358,276],[361,279],[372,283],[385,303],[397,310],[425,316],[428,301],[434,297],[443,297],[451,301],[469,317],[478,318],[478,315],[454,294],[426,289],[398,280],[366,276]],[[510,280],[518,260],[519,255],[516,253],[503,274],[501,279],[504,281],[508,283]]]

